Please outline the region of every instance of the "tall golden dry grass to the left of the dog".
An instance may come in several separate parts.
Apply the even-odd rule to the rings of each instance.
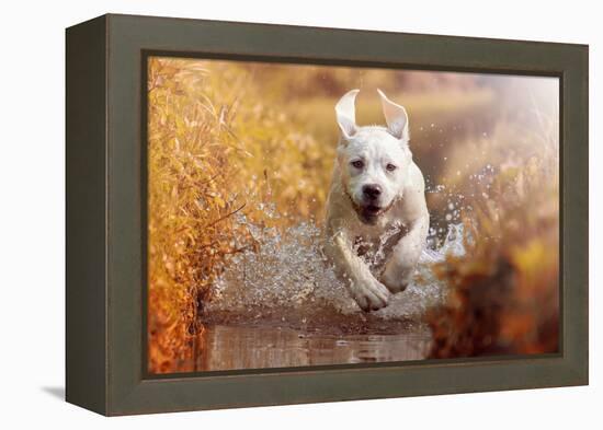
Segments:
[[[190,360],[213,283],[230,256],[259,245],[238,216],[278,226],[325,204],[332,158],[269,103],[252,73],[236,65],[209,72],[198,61],[149,61],[151,372]],[[268,217],[271,205],[286,217]]]

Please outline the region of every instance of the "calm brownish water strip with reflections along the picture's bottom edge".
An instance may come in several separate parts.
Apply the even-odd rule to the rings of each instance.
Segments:
[[[287,368],[421,360],[431,346],[429,328],[394,335],[300,333],[283,327],[207,326],[195,371]]]

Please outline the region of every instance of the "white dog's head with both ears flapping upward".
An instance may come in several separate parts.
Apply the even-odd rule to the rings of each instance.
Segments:
[[[341,129],[338,147],[341,181],[359,218],[367,224],[376,223],[379,216],[402,198],[412,162],[407,113],[377,91],[387,127],[356,125],[354,100],[359,90],[350,91],[335,105]]]

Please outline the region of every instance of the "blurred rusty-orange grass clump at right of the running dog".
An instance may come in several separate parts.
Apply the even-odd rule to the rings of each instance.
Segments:
[[[538,155],[501,163],[467,199],[467,254],[435,268],[451,292],[428,315],[432,358],[558,351],[558,146],[550,129],[554,123],[524,147]]]

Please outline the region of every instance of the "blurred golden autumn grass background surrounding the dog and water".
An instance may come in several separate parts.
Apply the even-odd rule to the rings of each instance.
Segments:
[[[318,228],[351,89],[359,125],[384,124],[376,89],[407,108],[425,175],[430,247],[464,225],[466,254],[424,321],[430,357],[558,348],[556,78],[150,58],[149,370],[198,353],[201,315],[249,224]],[[249,223],[240,222],[244,217]]]

